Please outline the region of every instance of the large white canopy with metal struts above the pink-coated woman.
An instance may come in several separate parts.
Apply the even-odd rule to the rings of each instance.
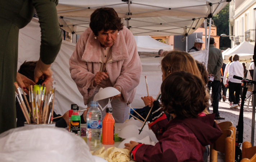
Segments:
[[[189,35],[229,1],[59,0],[57,12],[62,29],[78,35],[89,27],[91,13],[100,7],[114,8],[133,35]]]

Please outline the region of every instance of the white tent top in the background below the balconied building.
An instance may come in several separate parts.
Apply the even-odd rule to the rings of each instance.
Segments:
[[[240,61],[246,61],[252,59],[254,51],[254,45],[248,43],[247,41],[243,41],[237,47],[230,49],[223,56],[225,60],[228,60],[230,55],[238,54]]]

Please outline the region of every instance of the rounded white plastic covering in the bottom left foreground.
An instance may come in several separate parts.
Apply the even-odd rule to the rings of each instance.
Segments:
[[[19,127],[0,134],[1,162],[94,162],[85,141],[57,127]]]

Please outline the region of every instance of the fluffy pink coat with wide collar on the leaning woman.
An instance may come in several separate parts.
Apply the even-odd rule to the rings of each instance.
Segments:
[[[123,27],[118,32],[112,46],[112,60],[106,63],[109,80],[113,87],[121,87],[122,102],[133,102],[136,86],[139,85],[142,65],[140,63],[136,42],[129,29]],[[84,104],[93,96],[95,74],[102,70],[100,42],[87,28],[76,44],[75,51],[69,59],[71,78],[84,97]]]

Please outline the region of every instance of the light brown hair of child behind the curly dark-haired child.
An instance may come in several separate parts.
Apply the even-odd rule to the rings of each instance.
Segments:
[[[185,71],[202,78],[194,58],[187,52],[169,51],[162,59],[161,66],[165,76],[173,72]]]

